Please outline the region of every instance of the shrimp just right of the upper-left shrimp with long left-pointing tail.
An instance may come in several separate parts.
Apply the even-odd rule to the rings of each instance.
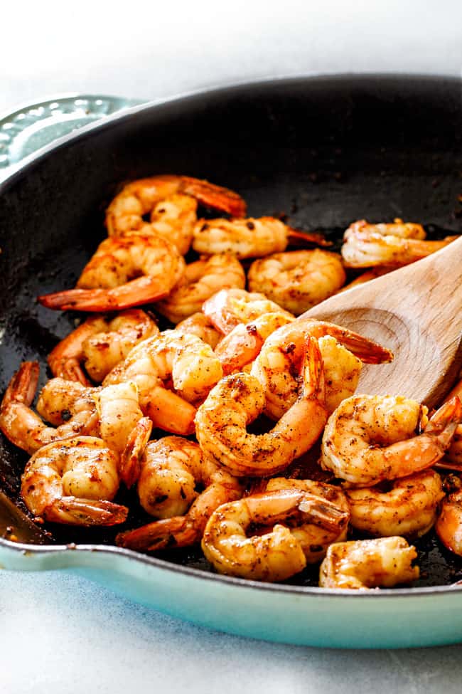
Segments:
[[[244,288],[245,272],[230,253],[200,258],[186,265],[186,270],[166,299],[156,304],[157,310],[173,323],[200,311],[204,301],[225,288]]]

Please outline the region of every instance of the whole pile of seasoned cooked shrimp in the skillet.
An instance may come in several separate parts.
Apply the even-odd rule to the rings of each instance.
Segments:
[[[226,216],[200,219],[200,205]],[[320,564],[321,587],[412,583],[409,541],[432,527],[462,556],[462,382],[433,413],[358,394],[362,364],[392,352],[303,315],[345,289],[348,268],[372,268],[355,285],[451,238],[356,221],[340,255],[318,233],[245,215],[207,181],[131,182],[76,288],[38,298],[91,315],[48,355],[35,409],[38,362],[1,402],[1,431],[31,456],[26,507],[41,522],[124,524],[116,542],[130,550],[200,544],[217,572],[257,581]],[[321,248],[286,251],[302,240]],[[120,485],[149,522],[132,527]]]

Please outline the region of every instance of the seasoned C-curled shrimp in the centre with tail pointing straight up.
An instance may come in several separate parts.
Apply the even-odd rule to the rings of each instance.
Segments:
[[[262,414],[265,402],[265,389],[255,377],[241,373],[222,379],[195,416],[195,433],[205,457],[237,477],[268,477],[311,448],[327,418],[316,340],[307,341],[297,401],[268,433],[247,433],[247,424]]]

